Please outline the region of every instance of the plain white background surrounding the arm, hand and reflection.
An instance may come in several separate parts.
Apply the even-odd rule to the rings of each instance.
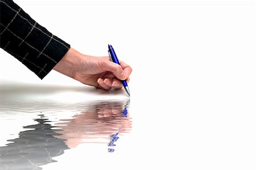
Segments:
[[[78,51],[106,56],[110,43],[133,68],[129,145],[86,164],[71,159],[81,145],[49,169],[255,169],[255,1],[15,2]],[[81,85],[0,55],[2,82]]]

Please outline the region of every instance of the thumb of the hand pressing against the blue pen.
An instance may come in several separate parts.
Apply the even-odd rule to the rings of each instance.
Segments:
[[[112,72],[119,80],[126,80],[125,72],[121,65],[113,63],[112,61],[106,61],[103,68],[105,71]]]

